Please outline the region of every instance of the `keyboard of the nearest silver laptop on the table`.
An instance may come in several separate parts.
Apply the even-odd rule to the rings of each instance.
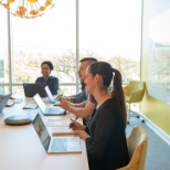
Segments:
[[[53,138],[51,151],[66,151],[67,139],[66,138]]]

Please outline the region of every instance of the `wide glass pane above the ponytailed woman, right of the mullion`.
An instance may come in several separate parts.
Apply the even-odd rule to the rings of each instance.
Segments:
[[[81,56],[118,68],[124,81],[140,77],[141,0],[79,1]]]

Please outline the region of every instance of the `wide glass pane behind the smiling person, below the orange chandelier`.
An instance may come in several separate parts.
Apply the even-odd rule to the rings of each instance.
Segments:
[[[35,19],[12,18],[13,82],[35,82],[41,63],[54,64],[60,83],[75,83],[75,0],[56,1]]]

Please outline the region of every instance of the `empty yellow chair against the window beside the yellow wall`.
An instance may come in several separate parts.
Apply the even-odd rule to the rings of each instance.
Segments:
[[[145,88],[145,82],[140,81],[130,81],[126,86],[123,87],[125,100],[128,104],[128,124],[130,120],[130,104],[140,103],[142,100]],[[139,118],[139,115],[137,117]]]

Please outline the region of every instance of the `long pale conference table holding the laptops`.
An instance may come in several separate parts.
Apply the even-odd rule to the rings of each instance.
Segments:
[[[88,170],[85,141],[81,139],[81,153],[46,153],[32,124],[9,126],[4,119],[11,115],[29,115],[34,118],[39,113],[44,121],[62,119],[67,121],[75,117],[67,113],[64,116],[43,116],[39,108],[23,109],[25,103],[34,102],[31,97],[22,97],[21,104],[4,107],[0,113],[0,170]],[[43,98],[47,106],[49,98]],[[55,107],[55,106],[53,106]],[[47,126],[52,136],[54,127]],[[74,136],[74,135],[71,135]]]

